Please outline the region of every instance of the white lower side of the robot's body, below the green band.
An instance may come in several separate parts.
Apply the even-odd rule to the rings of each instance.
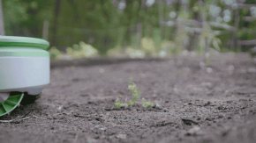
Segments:
[[[0,55],[0,92],[19,91],[38,95],[47,84],[49,56]]]

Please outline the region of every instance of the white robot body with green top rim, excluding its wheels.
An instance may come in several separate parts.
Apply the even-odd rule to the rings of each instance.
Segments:
[[[49,84],[48,47],[43,39],[0,36],[0,93],[39,95]]]

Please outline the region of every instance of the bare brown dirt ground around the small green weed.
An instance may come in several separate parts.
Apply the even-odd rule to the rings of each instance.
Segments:
[[[230,142],[256,140],[256,65],[246,54],[53,63],[35,104],[0,123],[1,142]],[[116,110],[129,78],[157,107]]]

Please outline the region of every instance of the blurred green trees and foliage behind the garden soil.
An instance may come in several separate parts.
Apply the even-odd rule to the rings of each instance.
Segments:
[[[5,35],[48,39],[52,58],[245,52],[255,0],[2,0]],[[65,55],[65,56],[64,56]]]

